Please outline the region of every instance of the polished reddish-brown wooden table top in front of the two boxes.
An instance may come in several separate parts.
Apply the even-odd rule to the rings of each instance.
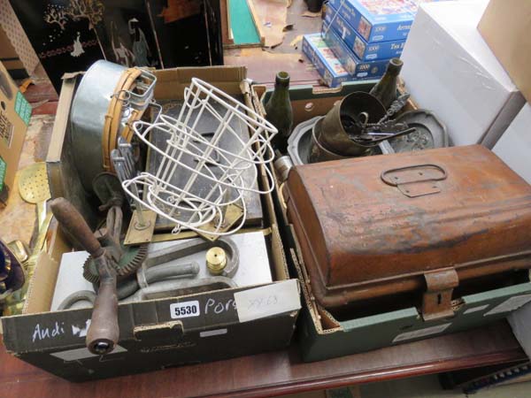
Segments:
[[[0,396],[266,397],[525,359],[504,321],[465,333],[310,364],[302,363],[296,346],[292,346],[258,356],[79,384],[26,364],[1,346]]]

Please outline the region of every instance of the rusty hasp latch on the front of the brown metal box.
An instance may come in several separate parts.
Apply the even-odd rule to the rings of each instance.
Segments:
[[[453,268],[444,268],[434,272],[426,272],[426,292],[422,297],[422,318],[435,320],[453,317],[451,294],[458,287],[458,272]]]

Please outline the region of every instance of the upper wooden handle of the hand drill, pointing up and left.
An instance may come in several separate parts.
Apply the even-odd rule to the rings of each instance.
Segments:
[[[61,226],[71,233],[93,258],[104,255],[102,245],[96,240],[87,222],[72,203],[64,197],[58,197],[50,202],[50,209]]]

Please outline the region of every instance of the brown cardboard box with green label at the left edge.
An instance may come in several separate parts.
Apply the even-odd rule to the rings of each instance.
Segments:
[[[0,207],[15,182],[31,105],[0,62]]]

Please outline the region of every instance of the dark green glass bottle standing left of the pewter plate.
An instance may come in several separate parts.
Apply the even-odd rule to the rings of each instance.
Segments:
[[[265,109],[266,119],[279,130],[273,137],[273,148],[286,153],[288,137],[293,126],[293,109],[289,101],[289,73],[277,73],[273,94],[269,97]]]

